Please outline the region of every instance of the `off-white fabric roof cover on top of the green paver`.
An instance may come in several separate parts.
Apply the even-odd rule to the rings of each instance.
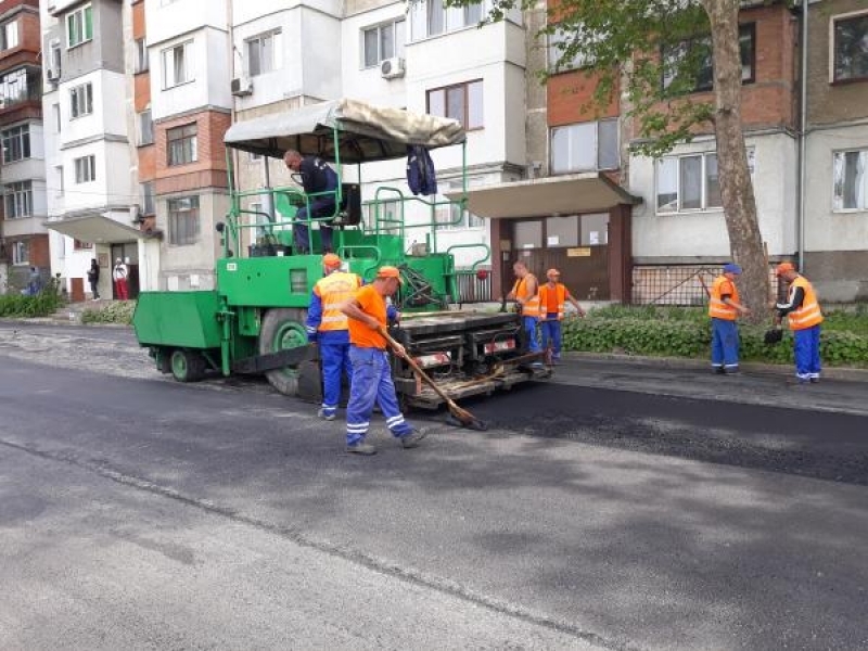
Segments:
[[[464,141],[457,120],[342,99],[235,123],[224,142],[266,156],[282,157],[293,149],[333,162],[334,129],[341,163],[401,158],[410,144],[435,149]]]

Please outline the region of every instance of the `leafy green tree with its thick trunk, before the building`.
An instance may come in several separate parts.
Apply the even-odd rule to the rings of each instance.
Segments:
[[[744,270],[739,286],[754,321],[767,315],[769,282],[741,124],[739,11],[771,2],[549,0],[538,35],[557,43],[559,55],[554,71],[540,71],[544,81],[580,54],[585,74],[597,80],[593,104],[605,106],[621,94],[622,116],[639,136],[630,144],[635,153],[656,158],[703,129],[714,130],[730,251]],[[499,21],[512,8],[534,10],[539,2],[493,5],[487,20]],[[709,92],[695,92],[703,88]]]

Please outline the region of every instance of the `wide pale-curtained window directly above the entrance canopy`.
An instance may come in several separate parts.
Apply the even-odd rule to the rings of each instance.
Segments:
[[[617,118],[578,123],[551,130],[551,173],[617,169]]]

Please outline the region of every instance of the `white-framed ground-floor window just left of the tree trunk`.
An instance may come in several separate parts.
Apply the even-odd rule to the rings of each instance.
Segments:
[[[716,153],[667,156],[656,167],[658,213],[723,207]]]

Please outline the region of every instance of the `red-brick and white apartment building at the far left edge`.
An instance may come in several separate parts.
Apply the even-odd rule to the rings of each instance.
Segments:
[[[50,276],[38,0],[0,1],[0,293]]]

